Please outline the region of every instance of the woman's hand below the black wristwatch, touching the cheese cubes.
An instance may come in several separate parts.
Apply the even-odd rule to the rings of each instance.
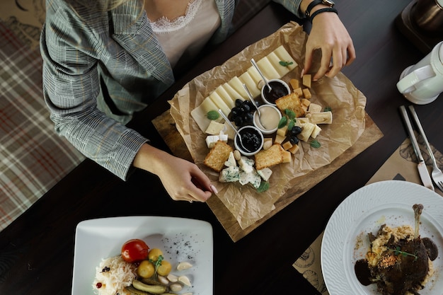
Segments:
[[[313,81],[323,76],[333,78],[343,66],[354,61],[355,48],[352,39],[336,13],[319,13],[313,18],[311,33],[306,42],[303,73],[311,68],[313,52],[317,49],[321,49],[321,64],[313,75]]]

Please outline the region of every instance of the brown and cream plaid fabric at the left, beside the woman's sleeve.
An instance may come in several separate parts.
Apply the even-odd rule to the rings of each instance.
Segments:
[[[54,132],[42,59],[0,22],[0,230],[83,159]]]

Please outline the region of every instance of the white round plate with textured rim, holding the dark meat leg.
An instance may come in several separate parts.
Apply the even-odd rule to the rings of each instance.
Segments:
[[[330,217],[321,244],[321,269],[330,295],[379,295],[376,285],[363,286],[354,270],[355,262],[369,249],[369,232],[380,226],[415,226],[413,204],[424,206],[420,236],[431,238],[439,249],[435,274],[420,295],[443,290],[443,198],[435,192],[401,180],[372,183],[353,192]]]

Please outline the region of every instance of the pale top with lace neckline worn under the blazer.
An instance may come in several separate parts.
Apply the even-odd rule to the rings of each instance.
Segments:
[[[174,20],[163,16],[151,21],[172,67],[180,59],[195,57],[219,25],[220,16],[214,0],[190,0],[185,16]]]

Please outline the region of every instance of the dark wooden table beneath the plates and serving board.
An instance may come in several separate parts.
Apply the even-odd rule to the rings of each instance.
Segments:
[[[344,73],[367,97],[367,112],[384,137],[234,243],[206,204],[173,202],[158,178],[136,171],[127,182],[84,161],[0,233],[0,294],[71,294],[76,225],[108,216],[181,216],[209,221],[214,230],[214,294],[318,294],[292,263],[323,231],[340,202],[362,187],[406,137],[398,93],[401,71],[424,54],[398,32],[394,19],[408,0],[338,1],[357,60]],[[168,149],[151,120],[168,109],[185,83],[293,19],[270,4],[216,50],[202,57],[131,126]],[[432,145],[443,150],[443,99],[416,106]],[[358,173],[356,173],[358,172]],[[77,294],[76,294],[77,295]],[[80,295],[80,294],[79,294]],[[84,295],[84,294],[81,294]]]

